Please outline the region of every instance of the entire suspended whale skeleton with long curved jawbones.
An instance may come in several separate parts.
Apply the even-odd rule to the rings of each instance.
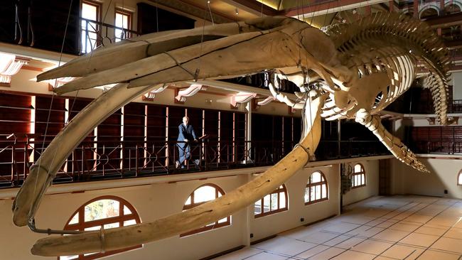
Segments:
[[[378,112],[428,72],[440,124],[446,116],[448,52],[421,21],[399,13],[375,13],[352,24],[323,31],[286,17],[264,17],[191,30],[151,33],[115,43],[38,75],[38,81],[78,77],[58,94],[114,84],[72,119],[31,166],[16,195],[13,221],[32,229],[43,194],[60,166],[92,129],[132,99],[166,84],[217,80],[271,70],[275,99],[303,109],[301,141],[279,163],[245,185],[193,209],[129,227],[39,239],[31,249],[41,256],[110,251],[188,232],[227,217],[271,193],[309,163],[321,139],[321,118],[355,119],[409,166],[428,172],[414,153],[380,122]],[[225,66],[223,66],[225,64]],[[294,82],[299,100],[277,89]]]

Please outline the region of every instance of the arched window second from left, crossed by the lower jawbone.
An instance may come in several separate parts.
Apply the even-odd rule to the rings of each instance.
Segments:
[[[183,206],[183,210],[190,210],[193,207],[197,207],[198,205],[202,205],[205,202],[210,200],[215,200],[217,197],[221,197],[224,195],[225,192],[215,184],[204,184],[201,185],[199,188],[195,189],[191,195],[189,195],[188,200],[186,200],[185,205]],[[201,227],[199,229],[195,229],[190,232],[186,232],[184,234],[180,234],[180,237],[185,237],[190,234],[196,234],[200,232],[204,232],[210,229],[216,229],[218,227],[225,227],[231,224],[231,216],[225,217],[217,222],[213,222],[207,224],[205,227]]]

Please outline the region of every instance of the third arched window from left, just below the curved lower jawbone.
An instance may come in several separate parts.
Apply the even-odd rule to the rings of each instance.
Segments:
[[[281,185],[272,193],[262,197],[255,202],[255,217],[263,217],[277,212],[287,210],[287,189],[286,185]]]

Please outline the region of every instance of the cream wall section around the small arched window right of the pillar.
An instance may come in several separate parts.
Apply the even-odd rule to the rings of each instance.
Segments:
[[[350,163],[354,167],[356,163],[361,163],[366,173],[366,185],[359,188],[353,188],[343,195],[343,205],[364,200],[367,197],[378,195],[379,191],[379,161],[358,161]]]

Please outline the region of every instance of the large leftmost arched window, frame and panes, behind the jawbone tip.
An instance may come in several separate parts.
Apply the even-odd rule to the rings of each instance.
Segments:
[[[65,230],[100,230],[114,227],[125,227],[141,223],[135,208],[127,200],[115,196],[102,196],[79,207],[65,224]],[[141,244],[126,249],[107,251],[104,253],[81,254],[78,256],[58,256],[60,260],[98,259],[102,256],[117,254],[142,247]]]

